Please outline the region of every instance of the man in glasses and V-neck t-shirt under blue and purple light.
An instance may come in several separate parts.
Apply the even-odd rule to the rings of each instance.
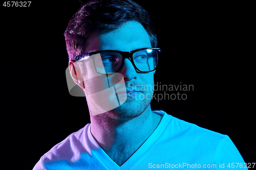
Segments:
[[[138,4],[83,4],[65,37],[70,75],[86,95],[91,124],[56,144],[34,169],[246,167],[227,135],[151,110],[161,49]]]

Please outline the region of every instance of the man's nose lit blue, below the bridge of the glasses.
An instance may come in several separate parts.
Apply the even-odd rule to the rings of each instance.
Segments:
[[[123,67],[119,72],[123,75],[125,82],[134,79],[137,74],[132,62],[127,58],[124,59]]]

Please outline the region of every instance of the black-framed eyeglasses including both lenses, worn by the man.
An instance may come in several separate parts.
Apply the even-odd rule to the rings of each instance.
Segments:
[[[161,48],[140,48],[130,52],[104,50],[76,56],[75,61],[80,62],[91,58],[98,74],[111,75],[122,68],[124,59],[127,58],[136,70],[150,72],[156,69],[161,53]]]

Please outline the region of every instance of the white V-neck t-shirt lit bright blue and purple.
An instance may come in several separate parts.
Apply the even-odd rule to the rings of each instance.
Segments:
[[[158,127],[121,166],[100,148],[87,124],[56,144],[33,169],[247,169],[227,135],[154,112],[163,116]]]

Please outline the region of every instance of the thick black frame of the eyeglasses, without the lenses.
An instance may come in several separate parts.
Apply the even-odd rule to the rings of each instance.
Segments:
[[[137,51],[140,51],[140,50],[156,50],[157,55],[158,55],[158,56],[157,56],[157,57],[158,57],[158,58],[157,58],[157,65],[158,65],[158,60],[159,60],[159,56],[160,56],[161,53],[162,53],[162,49],[161,49],[161,48],[152,48],[152,47],[140,48],[140,49],[133,50],[133,51],[130,51],[130,52],[122,52],[122,51],[117,51],[117,50],[102,50],[102,51],[96,51],[96,52],[91,52],[91,53],[86,53],[86,54],[78,55],[78,56],[76,56],[75,61],[76,61],[76,62],[79,62],[80,60],[82,60],[82,59],[85,58],[85,57],[91,58],[91,59],[93,60],[93,64],[94,64],[94,68],[95,68],[96,72],[97,72],[98,74],[100,74],[100,75],[113,75],[113,74],[115,74],[115,72],[120,71],[120,69],[123,67],[124,59],[126,59],[126,58],[129,59],[129,60],[132,62],[134,68],[135,68],[137,71],[140,71],[140,72],[151,72],[151,71],[156,70],[157,65],[156,65],[156,67],[155,67],[153,70],[150,70],[150,71],[141,71],[141,70],[135,65],[135,63],[134,63],[134,61],[133,61],[133,54],[134,54],[135,52],[137,52]],[[102,53],[102,52],[116,52],[116,53],[119,53],[119,54],[122,55],[122,63],[121,63],[120,68],[119,68],[117,71],[112,72],[112,73],[110,73],[110,74],[102,74],[101,72],[98,72],[98,70],[96,69],[96,65],[95,65],[95,57],[96,57],[95,54]]]

